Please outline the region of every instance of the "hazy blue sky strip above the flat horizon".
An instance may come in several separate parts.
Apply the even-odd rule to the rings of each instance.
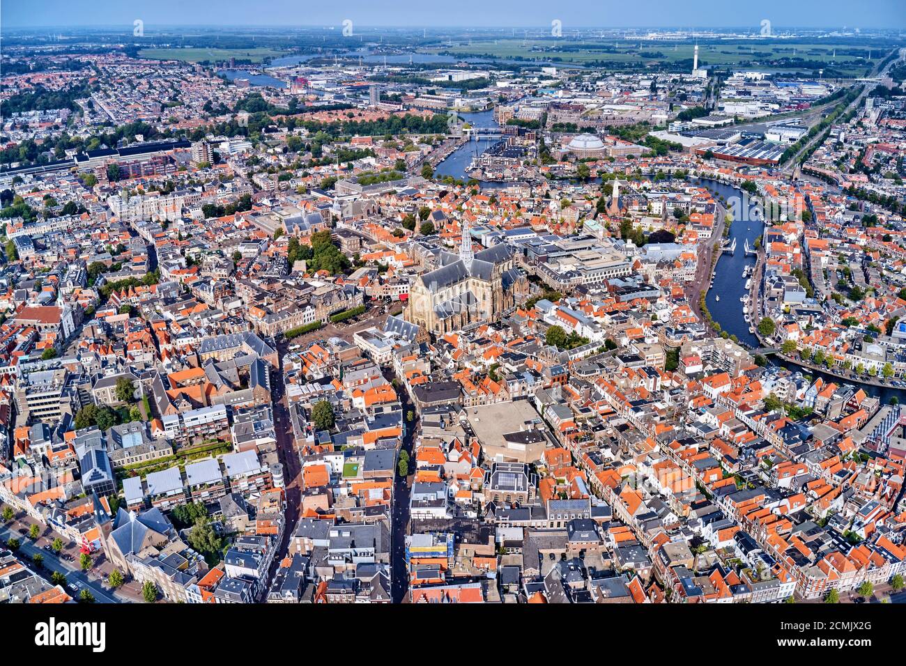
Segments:
[[[32,25],[906,26],[906,0],[3,0],[0,28]]]

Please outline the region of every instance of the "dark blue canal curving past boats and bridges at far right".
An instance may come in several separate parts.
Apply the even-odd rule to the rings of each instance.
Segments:
[[[746,242],[748,246],[755,245],[755,239],[764,234],[765,226],[757,215],[753,215],[752,210],[756,207],[755,202],[750,198],[744,198],[740,189],[734,188],[717,180],[698,179],[697,184],[708,188],[715,197],[723,198],[727,202],[748,202],[748,210],[742,209],[742,204],[737,204],[731,212],[733,213],[733,223],[730,225],[728,240],[730,243],[736,239],[736,254],[722,254],[718,259],[718,265],[714,271],[713,286],[708,290],[705,298],[705,304],[708,306],[708,312],[715,322],[720,324],[720,329],[732,335],[736,335],[740,343],[745,343],[750,347],[759,347],[761,343],[755,335],[748,332],[751,325],[757,326],[757,321],[746,323],[743,313],[743,303],[739,299],[748,294],[746,289],[746,278],[742,276],[743,270],[747,266],[755,266],[756,257],[746,256],[744,247]],[[750,271],[752,268],[749,269]],[[749,313],[751,314],[751,312]],[[837,383],[856,384],[869,395],[881,399],[882,404],[886,404],[891,398],[896,398],[902,404],[906,404],[906,391],[888,387],[872,386],[863,384],[860,381],[843,379],[836,377],[827,372],[821,372],[807,368],[794,362],[788,362],[776,355],[768,357],[769,362],[779,365],[792,372],[802,372],[812,377],[821,377],[824,381],[835,381]]]

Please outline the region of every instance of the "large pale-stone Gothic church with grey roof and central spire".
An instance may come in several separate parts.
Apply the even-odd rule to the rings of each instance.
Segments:
[[[459,254],[441,252],[439,263],[410,286],[405,314],[429,333],[493,321],[528,294],[528,281],[514,265],[513,248],[501,244],[474,253],[467,225]]]

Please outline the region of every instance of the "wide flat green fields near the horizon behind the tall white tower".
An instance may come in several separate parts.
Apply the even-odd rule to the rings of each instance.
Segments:
[[[645,40],[496,40],[473,41],[430,49],[430,53],[456,56],[489,56],[507,60],[551,60],[562,63],[608,63],[619,66],[670,65],[690,61],[695,44]],[[699,63],[704,67],[737,66],[770,70],[808,71],[820,63],[848,75],[862,76],[866,69],[880,63],[892,47],[882,48],[853,43],[808,43],[776,41],[765,43],[735,41],[699,43]],[[869,59],[871,58],[871,59]],[[782,59],[786,59],[783,62]],[[781,62],[777,62],[777,61]]]

